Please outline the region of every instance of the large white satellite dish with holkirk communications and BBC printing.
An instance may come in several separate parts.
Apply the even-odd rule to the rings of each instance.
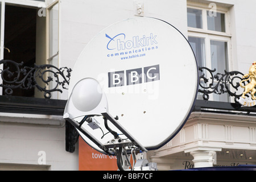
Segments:
[[[122,20],[98,33],[77,59],[64,118],[104,154],[116,155],[110,148],[120,134],[126,148],[130,142],[155,150],[187,121],[198,80],[192,48],[174,26],[154,18]]]

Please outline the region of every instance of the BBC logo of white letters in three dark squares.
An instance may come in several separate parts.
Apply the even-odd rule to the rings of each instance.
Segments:
[[[109,88],[160,80],[159,64],[126,71],[109,72]],[[126,80],[125,80],[126,79]]]

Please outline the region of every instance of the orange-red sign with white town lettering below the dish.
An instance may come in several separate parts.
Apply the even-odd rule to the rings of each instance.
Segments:
[[[80,171],[117,171],[116,156],[109,156],[94,150],[79,137]]]

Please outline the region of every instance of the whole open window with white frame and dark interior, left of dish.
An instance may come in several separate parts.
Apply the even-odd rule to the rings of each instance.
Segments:
[[[27,67],[34,64],[52,64],[58,67],[59,0],[0,0],[0,7],[0,60],[23,62],[23,66]],[[10,71],[18,74],[15,73],[15,65],[0,65],[0,69],[5,67],[10,67]],[[47,78],[50,75],[44,76]],[[12,78],[4,78],[3,81],[0,77],[0,84],[5,85],[8,79],[11,81]],[[51,88],[51,85],[47,86]],[[0,94],[4,92],[0,87]],[[43,97],[43,93],[36,92],[34,88],[16,88],[11,95]]]

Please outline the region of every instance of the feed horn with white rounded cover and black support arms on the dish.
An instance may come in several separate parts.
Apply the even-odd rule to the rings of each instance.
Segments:
[[[105,129],[113,135],[113,139],[106,143],[101,143],[83,127],[83,125],[87,123],[93,130],[101,129],[100,123],[94,119],[95,116],[102,116]],[[82,119],[77,121],[77,118],[80,117],[82,117]],[[117,156],[117,166],[119,170],[127,170],[129,167],[130,169],[134,168],[130,164],[131,155],[128,156],[127,151],[130,152],[131,149],[133,149],[134,154],[132,158],[135,158],[135,151],[137,151],[137,153],[147,152],[147,149],[108,113],[108,102],[105,94],[97,80],[93,78],[84,78],[74,86],[71,97],[65,107],[64,119],[75,126],[80,133],[92,140],[92,142],[100,147],[106,154]],[[119,137],[120,134],[110,129],[108,121],[121,131],[126,139]]]

